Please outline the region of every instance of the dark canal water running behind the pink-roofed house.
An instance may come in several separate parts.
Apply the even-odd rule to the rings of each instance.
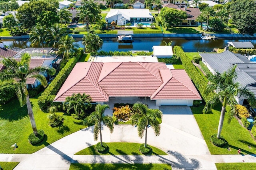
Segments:
[[[229,41],[249,41],[249,40],[172,40],[171,38],[134,38],[132,43],[118,43],[116,38],[103,38],[103,51],[129,51],[129,50],[148,50],[152,51],[154,45],[164,45],[164,42],[172,41],[172,46],[180,45],[187,52],[210,52],[214,48],[224,48]],[[256,48],[256,40],[250,40]],[[82,39],[76,39],[76,43],[80,47]],[[30,46],[28,40],[8,40],[4,41],[4,45],[12,47],[26,48]]]

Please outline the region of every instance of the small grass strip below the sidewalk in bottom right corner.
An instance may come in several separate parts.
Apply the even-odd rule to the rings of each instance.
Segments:
[[[218,170],[256,170],[256,163],[216,163]]]

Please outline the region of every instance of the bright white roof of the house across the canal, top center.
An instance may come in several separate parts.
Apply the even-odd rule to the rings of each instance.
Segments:
[[[153,18],[148,9],[110,9],[106,19],[118,14],[122,14],[127,20],[130,18]]]

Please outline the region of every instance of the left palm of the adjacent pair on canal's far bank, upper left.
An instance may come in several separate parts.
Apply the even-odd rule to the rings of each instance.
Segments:
[[[31,46],[39,46],[44,45],[46,35],[46,28],[45,26],[36,26],[34,27],[30,32],[30,38],[29,41],[31,42]]]

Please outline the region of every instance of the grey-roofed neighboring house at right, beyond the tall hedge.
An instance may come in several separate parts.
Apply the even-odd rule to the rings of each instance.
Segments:
[[[202,62],[212,73],[223,73],[233,65],[237,65],[237,79],[242,87],[251,90],[256,96],[256,63],[251,62],[241,54],[224,51],[222,53],[200,53]],[[246,98],[236,96],[238,104],[246,103]]]

